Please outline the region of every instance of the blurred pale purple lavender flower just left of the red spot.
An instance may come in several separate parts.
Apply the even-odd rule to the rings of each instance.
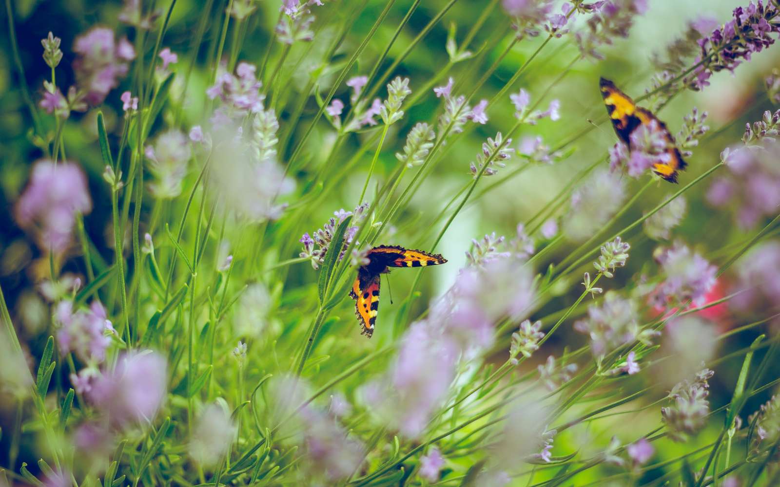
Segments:
[[[654,255],[665,275],[665,281],[651,295],[654,305],[665,307],[688,300],[695,306],[703,305],[707,292],[715,284],[718,268],[680,243],[658,249]]]

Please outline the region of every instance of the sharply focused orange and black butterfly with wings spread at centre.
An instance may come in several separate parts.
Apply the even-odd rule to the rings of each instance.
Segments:
[[[360,266],[357,278],[349,291],[355,300],[355,314],[363,330],[361,335],[371,338],[379,309],[379,275],[390,272],[390,267],[425,267],[447,262],[440,254],[422,250],[404,249],[399,245],[379,245],[368,251],[368,263]]]

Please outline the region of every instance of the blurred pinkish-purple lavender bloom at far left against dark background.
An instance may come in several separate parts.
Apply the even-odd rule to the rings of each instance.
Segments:
[[[56,165],[37,161],[27,188],[16,203],[16,221],[34,229],[41,250],[65,252],[71,243],[77,214],[88,214],[92,200],[87,178],[72,162]]]

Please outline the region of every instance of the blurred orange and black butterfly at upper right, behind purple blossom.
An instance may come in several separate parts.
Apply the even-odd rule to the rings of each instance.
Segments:
[[[598,85],[601,88],[601,97],[604,98],[604,103],[607,105],[607,113],[612,120],[615,133],[629,147],[629,150],[631,150],[631,133],[640,125],[647,127],[651,122],[656,122],[655,126],[658,127],[667,142],[666,153],[668,157],[665,162],[653,164],[653,171],[668,182],[677,182],[679,171],[683,171],[687,164],[686,161],[683,161],[680,151],[677,150],[675,138],[666,128],[666,124],[658,120],[658,117],[647,108],[637,107],[631,97],[619,90],[615,83],[609,79],[601,78]]]

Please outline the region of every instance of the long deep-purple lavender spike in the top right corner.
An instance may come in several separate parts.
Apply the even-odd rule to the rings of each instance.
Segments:
[[[701,52],[696,61],[701,65],[683,83],[693,90],[702,90],[710,84],[708,79],[714,72],[723,69],[733,72],[743,60],[750,60],[753,53],[774,44],[771,34],[780,33],[778,13],[775,2],[764,6],[761,0],[734,9],[732,20],[698,41]]]

